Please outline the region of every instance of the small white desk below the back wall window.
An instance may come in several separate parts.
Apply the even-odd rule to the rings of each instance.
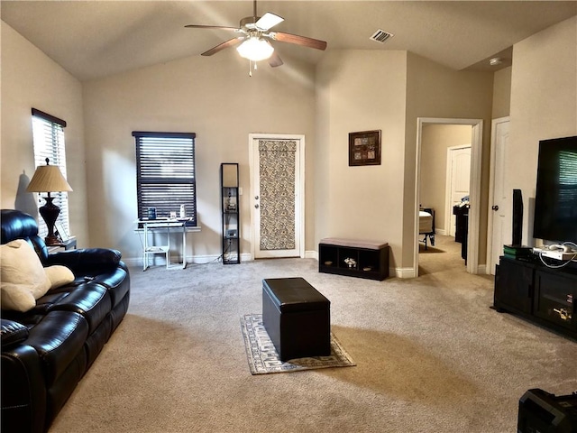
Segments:
[[[164,254],[166,257],[166,267],[170,265],[170,229],[182,233],[182,269],[187,267],[187,223],[190,219],[142,219],[137,220],[138,225],[142,225],[144,230],[144,241],[142,243],[142,271],[149,267],[149,257],[154,254]],[[163,245],[149,244],[149,232],[161,230],[167,232],[167,242]]]

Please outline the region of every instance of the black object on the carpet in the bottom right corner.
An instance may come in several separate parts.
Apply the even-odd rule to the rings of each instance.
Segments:
[[[517,433],[577,433],[577,393],[529,390],[519,400]]]

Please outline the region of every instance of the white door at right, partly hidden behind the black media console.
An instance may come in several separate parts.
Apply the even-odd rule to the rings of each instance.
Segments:
[[[499,263],[499,255],[503,253],[503,245],[509,244],[509,235],[505,233],[505,210],[508,194],[505,190],[505,150],[508,145],[508,117],[493,120],[491,134],[490,163],[490,216],[489,245],[487,248],[488,272],[495,274],[495,264]],[[492,227],[491,227],[492,225]]]

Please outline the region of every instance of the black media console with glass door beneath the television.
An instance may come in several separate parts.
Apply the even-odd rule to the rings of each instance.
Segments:
[[[495,272],[494,308],[577,339],[575,265],[552,269],[534,254],[523,259],[501,257]]]

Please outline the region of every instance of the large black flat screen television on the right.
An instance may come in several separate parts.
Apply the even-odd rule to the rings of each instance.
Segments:
[[[577,243],[577,136],[539,142],[533,237]]]

